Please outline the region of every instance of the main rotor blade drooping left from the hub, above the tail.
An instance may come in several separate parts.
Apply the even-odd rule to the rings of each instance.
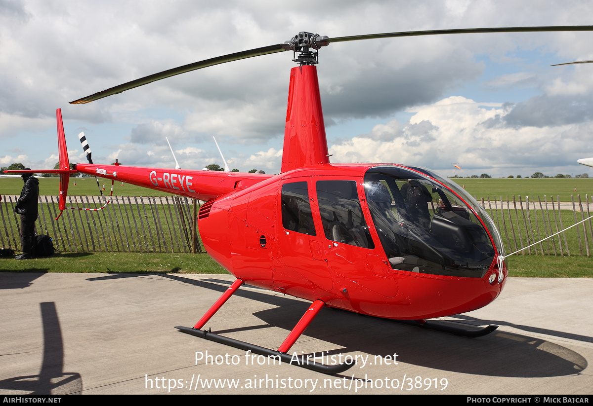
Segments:
[[[190,63],[189,65],[183,65],[179,67],[174,67],[173,69],[164,70],[160,73],[155,73],[154,75],[145,76],[144,78],[132,80],[131,82],[123,83],[123,85],[114,86],[113,88],[97,92],[93,95],[83,97],[81,99],[71,101],[70,104],[83,104],[88,103],[91,101],[95,101],[98,99],[102,99],[107,96],[115,95],[118,93],[125,92],[126,90],[137,88],[138,86],[147,85],[148,83],[155,82],[156,80],[161,80],[165,78],[170,78],[171,76],[179,75],[180,73],[190,72],[196,69],[202,69],[203,67],[208,67],[212,65],[219,65],[220,63],[232,62],[234,60],[240,59],[247,59],[254,56],[261,56],[267,54],[273,54],[276,52],[285,51],[282,47],[282,44],[270,45],[267,47],[261,47],[256,49],[251,49],[248,51],[241,51],[237,53],[232,53],[224,56],[218,56],[212,59],[202,60],[200,62]]]

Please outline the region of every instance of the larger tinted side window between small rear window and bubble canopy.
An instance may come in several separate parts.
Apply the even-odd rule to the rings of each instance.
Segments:
[[[326,238],[374,249],[355,181],[318,181],[317,201]]]

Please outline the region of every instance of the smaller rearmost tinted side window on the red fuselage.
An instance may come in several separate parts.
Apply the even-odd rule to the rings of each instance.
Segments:
[[[282,185],[282,225],[286,230],[315,236],[307,182]]]

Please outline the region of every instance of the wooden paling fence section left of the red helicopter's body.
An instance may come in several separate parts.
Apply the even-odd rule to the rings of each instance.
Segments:
[[[17,196],[2,196],[0,244],[21,249]],[[57,196],[39,197],[36,233],[52,237],[62,252],[192,252],[192,201],[180,196],[113,196],[100,211],[64,210],[55,220]],[[68,196],[68,206],[99,208],[95,196]],[[41,229],[40,229],[41,228]],[[197,243],[197,252],[201,252]]]

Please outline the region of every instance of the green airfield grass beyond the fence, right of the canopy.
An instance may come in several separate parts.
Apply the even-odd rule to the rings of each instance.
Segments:
[[[546,195],[548,201],[550,196],[554,196],[554,201],[556,196],[560,196],[560,201],[570,202],[570,195],[575,196],[575,200],[576,195],[581,195],[582,201],[585,201],[585,195],[593,195],[593,178],[452,178],[451,181],[457,182],[460,186],[465,185],[466,191],[472,196],[475,195],[478,201],[480,198],[486,199],[486,196],[490,196],[490,201],[495,197],[500,200],[500,196],[506,200],[506,196],[512,198],[513,195],[517,198],[520,195],[524,200],[525,196],[533,196],[536,200],[537,196],[540,196],[543,201]]]

